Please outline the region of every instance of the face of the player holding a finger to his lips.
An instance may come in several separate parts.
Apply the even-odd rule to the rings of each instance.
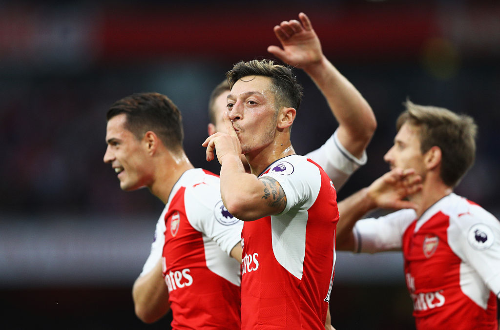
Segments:
[[[274,140],[277,111],[271,78],[252,75],[236,81],[227,96],[227,109],[242,153],[261,149]]]

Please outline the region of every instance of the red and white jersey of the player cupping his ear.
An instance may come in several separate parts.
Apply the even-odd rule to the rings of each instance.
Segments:
[[[497,330],[500,222],[451,193],[420,218],[403,209],[357,221],[357,249],[402,249],[417,329]]]

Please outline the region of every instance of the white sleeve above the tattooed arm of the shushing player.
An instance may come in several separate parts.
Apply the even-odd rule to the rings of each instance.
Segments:
[[[303,156],[295,155],[293,157],[289,161],[276,162],[271,170],[260,176],[270,176],[281,185],[286,196],[286,205],[279,214],[284,214],[296,206],[300,208],[310,207],[321,187],[319,168]]]

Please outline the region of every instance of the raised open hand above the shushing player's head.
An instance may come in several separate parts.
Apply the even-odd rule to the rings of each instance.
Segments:
[[[304,68],[319,62],[323,52],[307,15],[301,12],[298,18],[300,21],[284,20],[274,26],[274,34],[282,48],[271,45],[267,47],[267,51],[291,66]]]

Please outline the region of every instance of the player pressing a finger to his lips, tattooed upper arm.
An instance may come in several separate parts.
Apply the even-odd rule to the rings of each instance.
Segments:
[[[290,142],[301,86],[289,67],[265,59],[240,61],[227,77],[227,133],[202,145],[207,160],[216,151],[221,164],[224,205],[245,221],[241,328],[329,328],[336,192],[323,169],[296,155]]]

